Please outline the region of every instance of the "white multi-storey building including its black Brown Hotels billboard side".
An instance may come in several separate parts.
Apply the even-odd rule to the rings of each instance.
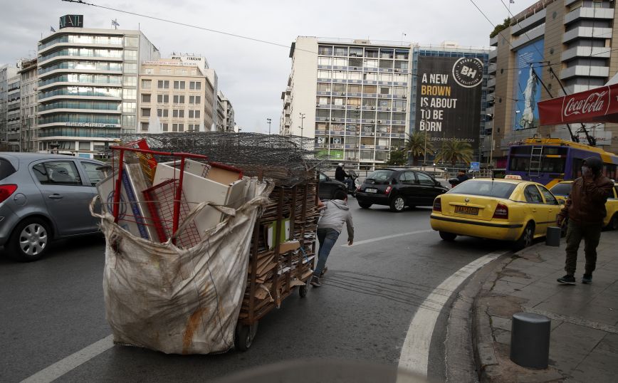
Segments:
[[[281,93],[280,133],[311,137],[318,154],[359,169],[386,162],[415,130],[438,142],[468,140],[478,147],[488,53],[456,43],[432,47],[299,36]],[[473,85],[460,85],[451,76],[460,59],[474,65]],[[444,86],[431,85],[436,70]],[[436,94],[424,93],[434,88],[440,88]],[[448,95],[438,98],[442,91]],[[452,106],[443,107],[443,101]]]

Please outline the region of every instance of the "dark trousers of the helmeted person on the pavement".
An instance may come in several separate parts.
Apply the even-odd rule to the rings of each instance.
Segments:
[[[569,275],[575,274],[577,267],[577,249],[580,242],[584,239],[584,253],[586,256],[585,273],[592,274],[597,267],[597,246],[601,238],[602,224],[577,224],[572,219],[569,220],[567,227],[567,261],[565,271]]]

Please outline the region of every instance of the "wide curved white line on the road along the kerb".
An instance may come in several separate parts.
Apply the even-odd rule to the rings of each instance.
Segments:
[[[423,377],[427,376],[431,336],[434,333],[436,320],[438,320],[442,308],[464,280],[479,268],[506,253],[508,251],[496,251],[477,258],[446,278],[429,294],[426,300],[419,305],[417,313],[414,314],[414,318],[410,322],[406,340],[404,340],[402,347],[402,354],[399,356],[399,368],[408,369],[421,374]]]

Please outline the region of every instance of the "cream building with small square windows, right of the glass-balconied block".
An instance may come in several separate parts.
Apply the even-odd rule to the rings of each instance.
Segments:
[[[214,87],[196,61],[145,61],[140,70],[140,132],[204,132],[213,124]]]

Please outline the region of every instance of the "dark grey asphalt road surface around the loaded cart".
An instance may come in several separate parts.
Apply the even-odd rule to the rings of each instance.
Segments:
[[[210,381],[315,357],[396,367],[410,322],[434,289],[471,261],[507,249],[476,238],[441,241],[430,231],[430,208],[395,214],[386,206],[360,209],[355,199],[350,206],[357,244],[342,246],[344,231],[330,254],[323,287],[310,288],[304,299],[291,295],[266,315],[248,352],[179,356],[114,346],[57,381]],[[55,245],[35,263],[0,257],[1,382],[31,377],[111,333],[103,305],[103,238]],[[436,321],[429,349],[428,375],[439,381],[444,380],[448,306]]]

